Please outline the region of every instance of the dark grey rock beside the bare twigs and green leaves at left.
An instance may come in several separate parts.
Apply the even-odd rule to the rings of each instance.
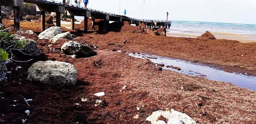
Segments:
[[[20,40],[20,41],[26,40],[27,41],[27,45],[22,50],[23,53],[27,53],[27,54],[33,55],[33,56],[41,55],[41,52],[38,50],[36,41],[34,41],[32,39],[27,39],[20,35],[15,35],[15,37],[16,37],[16,40]]]

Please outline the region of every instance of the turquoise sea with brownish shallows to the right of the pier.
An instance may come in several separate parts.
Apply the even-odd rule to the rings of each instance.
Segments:
[[[198,37],[206,31],[219,39],[256,41],[256,24],[172,21],[168,36]]]

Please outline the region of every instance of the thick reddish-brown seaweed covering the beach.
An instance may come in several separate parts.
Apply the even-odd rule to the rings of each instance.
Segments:
[[[109,31],[103,32],[98,30],[102,28],[101,20],[95,20],[94,27],[90,21],[88,32],[83,31],[83,22],[78,22],[75,30],[68,29],[69,22],[61,23],[63,32],[76,36],[73,41],[97,52],[97,56],[88,58],[72,58],[62,53],[62,45],[69,41],[65,38],[54,44],[47,39],[39,39],[39,23],[20,23],[23,30],[36,33],[23,33],[22,36],[36,41],[42,55],[23,63],[17,70],[18,62],[6,64],[11,73],[0,86],[1,123],[20,123],[26,118],[27,123],[149,124],[146,118],[153,111],[167,108],[186,113],[200,124],[256,122],[255,90],[232,82],[208,80],[204,75],[196,77],[165,70],[149,59],[128,55],[157,55],[255,77],[256,43],[225,40],[217,36],[217,39],[210,39],[205,35],[199,38],[149,35],[144,30],[145,25],[130,26],[128,22],[112,23]],[[8,22],[6,27],[12,25]],[[15,59],[24,61],[28,58]],[[28,68],[34,62],[46,60],[72,64],[77,70],[76,85],[56,87],[28,80]],[[127,88],[120,92],[124,85]],[[97,92],[105,92],[105,96],[93,95]],[[28,108],[24,98],[33,99],[29,101],[31,113],[28,116],[24,114]],[[87,101],[82,101],[82,98]],[[103,102],[95,105],[96,100]]]

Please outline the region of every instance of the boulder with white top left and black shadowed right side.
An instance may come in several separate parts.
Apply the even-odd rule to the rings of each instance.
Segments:
[[[79,58],[96,56],[97,53],[90,47],[79,44],[75,41],[69,41],[62,45],[61,51],[67,55],[75,54]]]

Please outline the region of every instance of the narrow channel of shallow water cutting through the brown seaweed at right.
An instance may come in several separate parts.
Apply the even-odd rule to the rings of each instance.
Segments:
[[[119,51],[120,52],[120,51]],[[171,59],[162,56],[154,56],[154,55],[146,55],[146,54],[138,54],[138,53],[129,53],[130,56],[141,58],[141,59],[149,59],[153,63],[164,64],[163,69],[176,71],[182,74],[195,76],[195,77],[204,77],[209,80],[217,80],[223,82],[233,83],[236,86],[245,87],[251,90],[256,90],[256,77],[249,76],[244,74],[237,73],[229,73],[218,68],[209,67],[206,65],[187,62],[179,59]],[[151,58],[153,57],[153,58]],[[181,70],[176,70],[173,68],[167,68],[168,66],[180,67]],[[166,67],[167,66],[167,67]]]

